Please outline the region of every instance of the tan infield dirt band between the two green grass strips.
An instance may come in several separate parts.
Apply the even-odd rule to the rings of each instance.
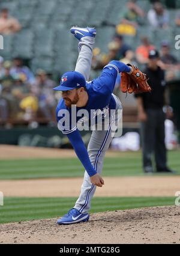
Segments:
[[[179,191],[179,176],[103,177],[95,197],[174,197]],[[5,197],[78,197],[82,178],[44,178],[1,180]]]

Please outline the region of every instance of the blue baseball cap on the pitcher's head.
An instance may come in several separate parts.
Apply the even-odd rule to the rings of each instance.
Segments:
[[[60,85],[53,88],[53,90],[69,91],[80,87],[86,87],[85,78],[81,73],[72,71],[64,73],[64,75],[62,75]]]

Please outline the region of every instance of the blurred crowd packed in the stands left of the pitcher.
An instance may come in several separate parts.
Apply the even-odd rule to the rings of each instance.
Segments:
[[[0,58],[0,120],[55,122],[55,82],[45,70],[34,75],[23,59],[13,61]]]

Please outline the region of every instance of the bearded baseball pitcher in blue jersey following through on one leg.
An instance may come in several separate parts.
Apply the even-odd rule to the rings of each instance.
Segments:
[[[85,168],[85,174],[78,200],[73,209],[58,219],[59,225],[88,221],[88,211],[96,186],[102,187],[104,184],[101,177],[103,159],[118,127],[118,112],[122,110],[120,100],[112,93],[118,73],[122,76],[123,92],[151,91],[145,74],[137,67],[125,65],[120,61],[109,62],[97,79],[88,82],[96,30],[73,26],[70,31],[79,40],[79,56],[75,71],[64,73],[60,85],[54,88],[62,91],[62,99],[56,108],[56,117],[58,129],[68,136]],[[99,114],[101,118],[98,118]],[[87,150],[79,133],[79,124],[94,127],[100,119],[106,124],[106,129],[104,124],[103,129],[92,130]]]

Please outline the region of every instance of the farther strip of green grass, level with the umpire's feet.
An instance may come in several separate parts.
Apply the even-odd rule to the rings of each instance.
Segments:
[[[180,151],[169,151],[169,166],[180,175]],[[0,160],[0,180],[48,177],[82,177],[83,166],[77,158]],[[105,157],[103,177],[143,175],[141,152],[119,152]]]

